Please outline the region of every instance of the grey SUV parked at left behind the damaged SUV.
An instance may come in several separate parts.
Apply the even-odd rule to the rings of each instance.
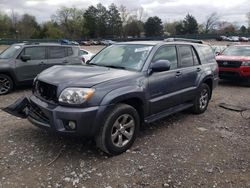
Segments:
[[[14,87],[31,84],[43,70],[54,65],[80,65],[79,47],[52,43],[14,44],[0,54],[0,95]]]

